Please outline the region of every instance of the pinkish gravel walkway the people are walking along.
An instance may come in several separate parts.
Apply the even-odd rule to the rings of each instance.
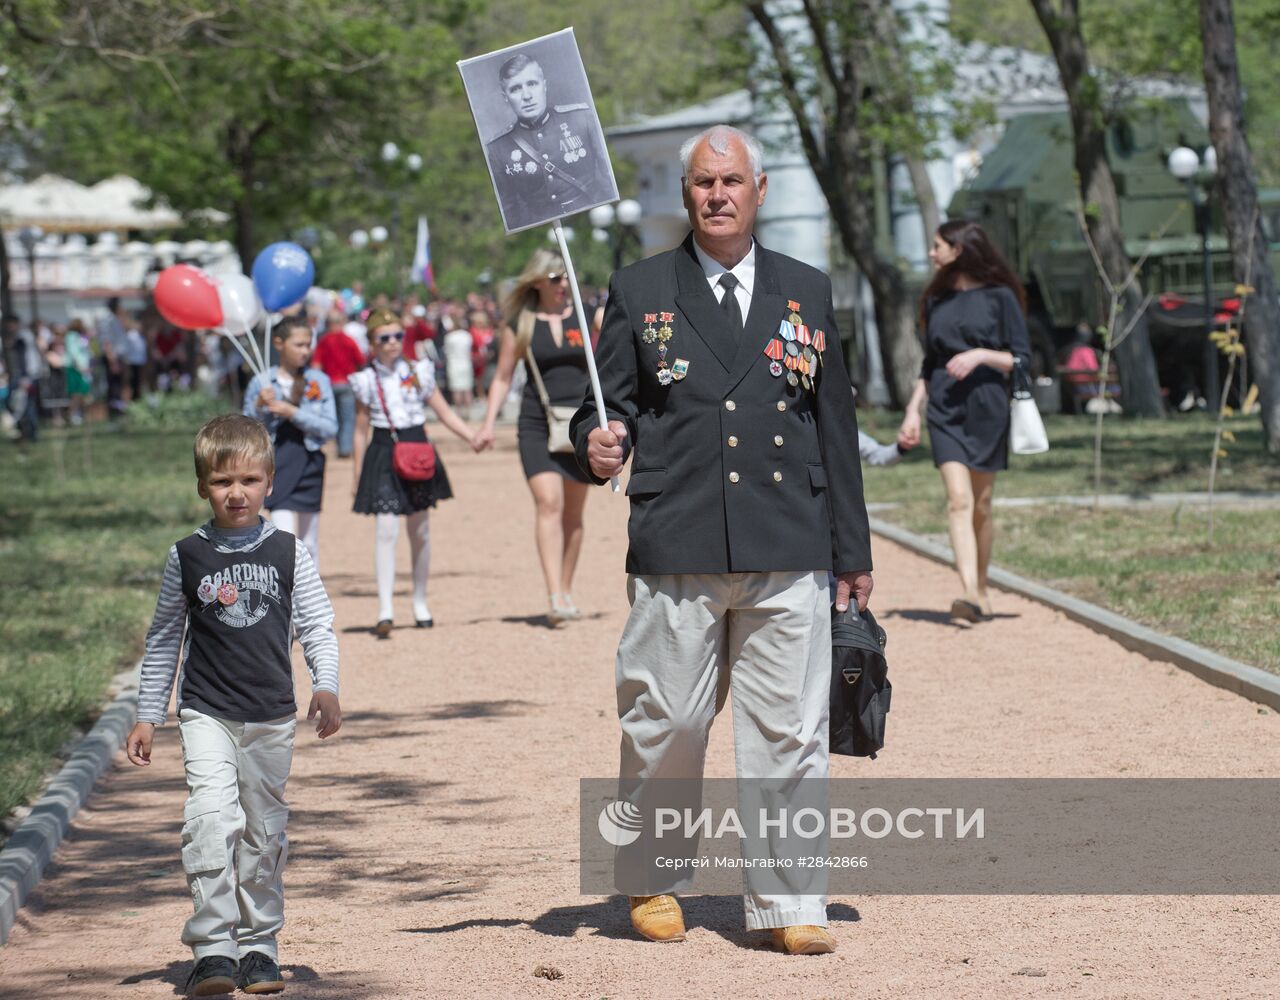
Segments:
[[[577,894],[577,781],[617,759],[613,649],[625,616],[626,502],[596,492],[577,586],[553,631],[531,504],[508,431],[472,457],[445,442],[458,498],[434,515],[431,631],[367,634],[372,524],[343,513],[333,462],[324,575],[338,608],[347,721],[298,730],[288,923],[298,997],[1271,997],[1280,901],[1262,896],[840,898],[840,950],[787,959],[736,899],[687,901],[682,945],[634,940],[623,904]],[[872,472],[874,475],[874,472]],[[402,540],[401,622],[408,622]],[[157,558],[160,553],[157,553]],[[837,776],[1276,776],[1277,716],[997,595],[952,625],[951,574],[877,543],[890,630],[890,749]],[[156,763],[116,763],[0,949],[3,997],[166,997],[189,958],[178,864],[184,794],[173,727]],[[730,718],[709,773],[732,775]],[[536,965],[563,978],[535,978]],[[1037,974],[1043,973],[1043,974]]]

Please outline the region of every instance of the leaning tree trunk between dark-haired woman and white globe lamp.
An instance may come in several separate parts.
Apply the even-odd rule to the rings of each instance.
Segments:
[[[1055,9],[1052,0],[1030,3],[1053,50],[1062,90],[1066,92],[1075,140],[1075,172],[1089,238],[1097,247],[1107,279],[1119,288],[1128,279],[1133,265],[1124,250],[1120,200],[1111,164],[1107,161],[1106,122],[1102,118],[1098,81],[1089,68],[1089,54],[1080,31],[1079,0],[1061,0],[1061,10]],[[1117,323],[1120,330],[1132,325],[1132,332],[1115,351],[1116,366],[1120,369],[1120,394],[1125,414],[1164,416],[1165,403],[1160,396],[1147,318],[1137,315],[1142,301],[1142,288],[1134,282],[1124,296],[1124,311]]]

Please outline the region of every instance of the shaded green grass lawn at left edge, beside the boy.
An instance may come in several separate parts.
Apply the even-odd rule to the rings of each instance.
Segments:
[[[219,408],[193,396],[87,447],[83,428],[0,446],[0,817],[136,662],[165,553],[209,513],[191,447]]]

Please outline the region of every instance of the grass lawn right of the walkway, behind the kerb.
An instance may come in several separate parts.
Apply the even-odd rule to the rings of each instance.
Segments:
[[[873,426],[874,425],[874,426]],[[1235,443],[1220,460],[1220,490],[1280,492],[1280,461],[1266,453],[1253,417],[1228,421]],[[892,415],[868,414],[881,440],[896,433]],[[1212,420],[1108,417],[1103,492],[1169,493],[1208,488]],[[1047,455],[1010,457],[997,497],[1091,496],[1093,421],[1047,421]],[[868,501],[897,502],[879,516],[946,535],[942,481],[927,444],[892,469],[865,470]],[[1280,673],[1280,507],[1215,515],[1215,542],[1202,506],[1092,508],[1047,504],[997,508],[995,562],[1153,629]]]

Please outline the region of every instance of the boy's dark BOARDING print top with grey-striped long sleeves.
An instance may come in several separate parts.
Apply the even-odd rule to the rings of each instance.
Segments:
[[[234,721],[292,713],[293,639],[312,690],[338,694],[333,604],[306,545],[270,522],[248,536],[206,524],[169,549],[142,659],[138,721],[164,723],[175,676],[179,708]]]

